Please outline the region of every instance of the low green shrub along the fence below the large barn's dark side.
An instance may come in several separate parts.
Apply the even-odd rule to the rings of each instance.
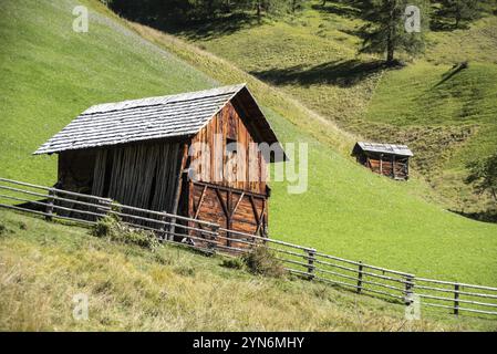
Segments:
[[[153,232],[132,228],[123,223],[115,215],[100,219],[93,226],[91,233],[120,243],[136,244],[152,251],[159,246],[158,239]]]

